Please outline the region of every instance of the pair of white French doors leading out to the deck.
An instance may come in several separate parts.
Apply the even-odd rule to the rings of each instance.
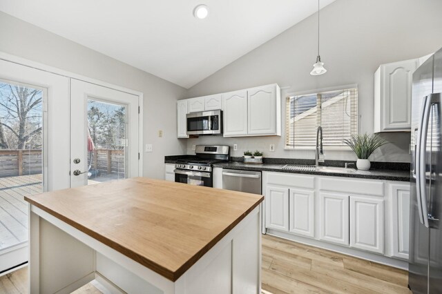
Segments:
[[[137,177],[139,124],[138,95],[0,59],[0,275],[28,261],[24,197]]]

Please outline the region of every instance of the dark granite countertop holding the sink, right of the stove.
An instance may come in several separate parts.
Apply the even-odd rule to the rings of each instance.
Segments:
[[[356,177],[360,179],[383,179],[387,181],[410,182],[410,171],[406,170],[356,170],[354,168],[333,167],[332,170],[325,170],[327,166],[321,166],[316,171],[304,170],[283,170],[285,164],[244,164],[244,162],[227,162],[213,164],[215,168],[230,168],[234,170],[257,170],[273,171],[278,173],[299,173],[304,175],[326,175],[332,177]]]

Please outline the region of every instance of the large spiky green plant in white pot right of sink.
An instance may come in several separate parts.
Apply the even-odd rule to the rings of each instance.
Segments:
[[[358,161],[356,161],[356,167],[358,170],[369,170],[370,161],[368,157],[372,155],[374,150],[387,144],[388,142],[379,137],[376,134],[372,135],[352,135],[350,139],[344,139],[344,143],[347,144],[356,156]]]

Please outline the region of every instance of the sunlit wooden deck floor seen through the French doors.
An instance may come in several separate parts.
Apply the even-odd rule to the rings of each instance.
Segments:
[[[97,184],[118,179],[102,174],[89,179]],[[28,202],[24,196],[41,193],[42,175],[0,177],[0,254],[1,250],[28,241]]]

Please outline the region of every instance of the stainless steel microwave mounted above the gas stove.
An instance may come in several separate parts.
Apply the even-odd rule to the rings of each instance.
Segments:
[[[222,134],[222,110],[191,112],[186,120],[187,135]]]

